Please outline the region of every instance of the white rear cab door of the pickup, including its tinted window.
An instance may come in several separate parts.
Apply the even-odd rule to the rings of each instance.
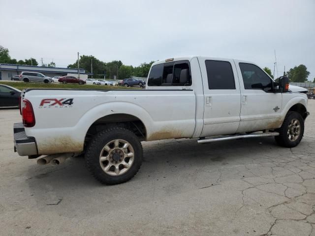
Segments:
[[[236,133],[240,123],[241,91],[232,59],[198,58],[204,91],[201,137]]]

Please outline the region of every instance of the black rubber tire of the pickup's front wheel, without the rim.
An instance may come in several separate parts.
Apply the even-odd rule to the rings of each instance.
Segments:
[[[299,134],[293,141],[289,139],[289,135],[291,135],[291,129],[289,130],[289,127],[291,126],[290,123],[293,120],[298,120],[299,122]],[[294,129],[294,127],[293,127]],[[277,129],[276,131],[279,132],[279,136],[275,136],[275,140],[278,145],[286,148],[293,148],[297,146],[304,134],[304,119],[302,116],[297,112],[288,112],[284,118],[284,122],[282,123],[282,126]],[[288,134],[288,131],[290,134]],[[293,131],[292,131],[293,132]]]

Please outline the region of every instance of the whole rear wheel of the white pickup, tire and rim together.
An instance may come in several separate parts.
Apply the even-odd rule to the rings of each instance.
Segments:
[[[137,174],[142,156],[138,137],[128,129],[114,126],[94,136],[85,160],[88,170],[98,181],[119,184]]]

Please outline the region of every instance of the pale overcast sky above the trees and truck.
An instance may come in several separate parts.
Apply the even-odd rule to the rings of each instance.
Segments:
[[[15,59],[77,52],[139,65],[183,55],[251,60],[315,77],[315,0],[0,0],[0,45]],[[276,73],[277,75],[277,73]]]

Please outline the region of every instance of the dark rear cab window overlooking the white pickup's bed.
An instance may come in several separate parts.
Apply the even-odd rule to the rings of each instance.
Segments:
[[[191,86],[189,60],[165,62],[152,66],[148,86]]]

